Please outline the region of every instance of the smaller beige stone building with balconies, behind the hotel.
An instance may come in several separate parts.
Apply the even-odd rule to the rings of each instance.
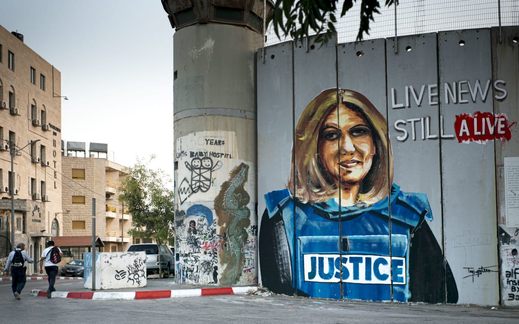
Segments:
[[[128,174],[126,167],[109,161],[99,154],[107,152],[107,145],[90,143],[89,154],[83,142],[67,142],[66,154],[62,157],[63,175],[63,237],[92,237],[92,212],[95,209],[95,236],[100,239],[100,248],[105,252],[122,251],[132,244],[128,230],[131,215],[122,213],[118,201],[120,181]],[[74,153],[75,152],[75,156]],[[84,157],[77,156],[83,153]],[[98,155],[95,156],[95,153]],[[95,208],[93,206],[95,199]],[[91,244],[61,246],[65,254],[83,258]]]

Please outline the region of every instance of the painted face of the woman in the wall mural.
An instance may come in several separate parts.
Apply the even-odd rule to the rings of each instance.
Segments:
[[[375,154],[370,126],[357,111],[340,104],[338,112],[332,109],[321,123],[318,154],[324,172],[337,187],[360,185]]]

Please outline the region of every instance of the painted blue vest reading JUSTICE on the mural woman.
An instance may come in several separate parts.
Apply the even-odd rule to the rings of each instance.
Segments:
[[[367,207],[342,207],[340,215],[334,199],[303,204],[288,189],[266,194],[265,201],[270,218],[282,215],[295,289],[339,299],[342,279],[344,298],[388,301],[392,283],[393,300],[407,301],[409,237],[424,217],[432,221],[425,194],[393,185],[391,217],[387,198]]]

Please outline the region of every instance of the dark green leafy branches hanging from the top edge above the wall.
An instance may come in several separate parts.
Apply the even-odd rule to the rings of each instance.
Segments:
[[[353,7],[353,3],[360,1],[360,25],[357,40],[362,40],[364,33],[370,34],[370,21],[374,21],[373,14],[380,13],[378,0],[343,0],[343,9],[340,17]],[[339,0],[276,0],[274,14],[270,17],[274,24],[274,31],[278,38],[290,36],[294,40],[308,37],[310,31],[318,34],[315,43],[326,44],[336,33],[335,12]],[[386,0],[385,5],[398,5],[398,0]]]

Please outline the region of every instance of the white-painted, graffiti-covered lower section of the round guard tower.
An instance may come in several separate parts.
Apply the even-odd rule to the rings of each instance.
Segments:
[[[177,283],[257,284],[257,224],[251,223],[249,206],[253,184],[236,143],[236,134],[226,131],[177,139],[182,179],[175,210]]]

